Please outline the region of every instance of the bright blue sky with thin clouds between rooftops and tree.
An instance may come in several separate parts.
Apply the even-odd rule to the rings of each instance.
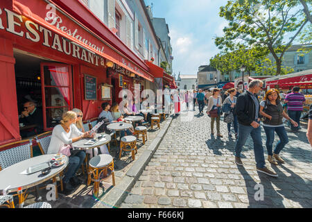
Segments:
[[[145,0],[153,3],[153,17],[164,17],[169,26],[173,48],[173,72],[196,75],[200,65],[218,53],[213,38],[223,34],[227,25],[219,17],[227,0]]]

